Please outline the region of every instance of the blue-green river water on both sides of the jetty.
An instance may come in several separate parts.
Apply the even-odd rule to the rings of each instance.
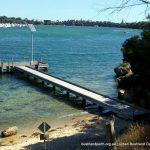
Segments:
[[[122,60],[121,44],[140,30],[65,26],[36,29],[35,57],[48,60],[50,74],[116,97],[113,68]],[[26,27],[0,28],[0,58],[29,58],[30,36]],[[10,125],[27,127],[81,112],[31,82],[0,76],[0,129]]]

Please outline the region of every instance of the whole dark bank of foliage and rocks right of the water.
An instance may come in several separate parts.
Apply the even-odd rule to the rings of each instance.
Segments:
[[[121,48],[123,62],[114,69],[118,98],[150,110],[150,30],[127,39]]]

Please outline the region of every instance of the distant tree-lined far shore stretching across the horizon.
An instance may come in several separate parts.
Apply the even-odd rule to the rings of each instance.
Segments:
[[[66,20],[66,21],[52,21],[52,20],[30,20],[22,19],[20,17],[6,17],[0,16],[0,24],[7,24],[8,27],[14,25],[20,26],[24,24],[34,25],[64,25],[64,26],[91,26],[91,27],[118,27],[118,28],[132,28],[132,29],[150,29],[149,21],[132,22],[127,23],[122,20],[121,23],[109,22],[109,21],[92,21],[92,20]],[[11,26],[12,25],[12,26]],[[6,26],[7,27],[7,26]]]

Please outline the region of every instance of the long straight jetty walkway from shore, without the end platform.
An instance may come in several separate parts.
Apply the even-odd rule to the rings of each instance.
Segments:
[[[92,101],[93,103],[107,108],[123,118],[133,119],[133,117],[150,113],[148,110],[145,110],[141,107],[130,105],[127,102],[121,102],[117,99],[110,98],[85,87],[62,80],[58,77],[39,72],[30,67],[16,66],[15,69],[26,74],[27,76],[33,77],[34,79],[39,79],[43,83],[52,84],[54,89],[55,86],[60,87],[64,89],[68,95],[69,93],[72,93],[76,96],[82,97],[85,100]]]

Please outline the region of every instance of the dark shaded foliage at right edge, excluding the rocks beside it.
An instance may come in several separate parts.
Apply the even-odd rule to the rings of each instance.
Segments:
[[[133,92],[132,101],[145,103],[150,108],[150,30],[127,39],[121,49],[125,62],[129,62],[133,75],[122,80],[121,88]]]

